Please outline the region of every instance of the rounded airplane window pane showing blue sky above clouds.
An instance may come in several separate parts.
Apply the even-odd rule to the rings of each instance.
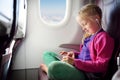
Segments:
[[[40,0],[40,16],[47,24],[62,22],[66,14],[67,0]]]

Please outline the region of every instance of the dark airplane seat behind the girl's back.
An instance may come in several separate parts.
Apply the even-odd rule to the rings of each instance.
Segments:
[[[96,2],[103,12],[103,22],[106,31],[114,38],[115,46],[113,55],[109,63],[108,71],[104,76],[104,80],[111,80],[115,72],[118,70],[117,56],[120,52],[120,1],[119,0],[98,0]]]

